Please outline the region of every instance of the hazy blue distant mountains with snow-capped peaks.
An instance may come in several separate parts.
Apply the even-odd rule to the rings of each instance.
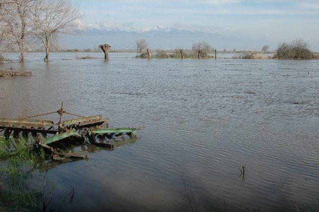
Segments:
[[[66,35],[61,39],[62,48],[94,49],[99,44],[108,43],[113,49],[135,49],[137,39],[146,39],[152,49],[191,48],[192,44],[205,41],[217,49],[260,49],[263,40],[244,39],[219,33],[190,31],[173,27],[156,26],[144,28],[140,32],[88,28],[78,36]]]

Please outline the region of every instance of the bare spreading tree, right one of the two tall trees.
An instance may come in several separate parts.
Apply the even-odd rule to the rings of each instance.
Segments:
[[[59,34],[75,34],[75,20],[83,14],[70,0],[36,0],[32,8],[34,34],[41,40],[48,61],[52,41]]]

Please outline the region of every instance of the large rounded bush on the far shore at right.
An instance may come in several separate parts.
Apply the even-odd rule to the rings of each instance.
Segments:
[[[280,43],[274,55],[275,59],[314,59],[310,45],[303,39],[293,40],[290,43]]]

